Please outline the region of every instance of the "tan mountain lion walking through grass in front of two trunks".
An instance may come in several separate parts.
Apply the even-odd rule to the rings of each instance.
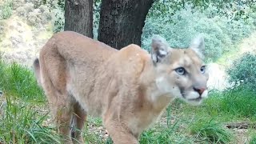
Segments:
[[[138,143],[142,130],[174,98],[195,104],[206,98],[207,90],[200,97],[194,90],[206,89],[208,79],[200,73],[199,55],[192,49],[172,49],[161,38],[153,38],[151,56],[134,44],[115,50],[66,31],[42,47],[34,69],[60,134],[69,136],[72,122],[78,129],[74,138],[83,142],[79,130],[91,114],[102,117],[114,143],[131,144]],[[189,74],[178,75],[180,66]],[[72,143],[70,137],[66,143]]]

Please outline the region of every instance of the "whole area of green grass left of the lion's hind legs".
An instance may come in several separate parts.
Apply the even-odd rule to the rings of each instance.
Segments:
[[[54,128],[42,126],[50,114],[40,112],[46,102],[32,70],[0,58],[0,143],[59,143]]]

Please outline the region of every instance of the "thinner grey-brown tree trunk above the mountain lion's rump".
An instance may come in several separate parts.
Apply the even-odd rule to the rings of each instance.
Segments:
[[[66,0],[64,30],[93,38],[93,0]]]

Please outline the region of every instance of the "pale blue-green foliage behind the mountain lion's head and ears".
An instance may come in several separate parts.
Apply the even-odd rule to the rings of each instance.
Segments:
[[[206,40],[207,60],[216,61],[223,53],[236,49],[238,42],[250,35],[256,26],[254,14],[246,21],[242,18],[232,20],[218,15],[216,10],[216,6],[208,6],[202,11],[186,5],[172,14],[151,14],[143,29],[142,47],[150,49],[150,38],[153,34],[162,35],[173,47],[187,47],[192,38],[202,34]]]

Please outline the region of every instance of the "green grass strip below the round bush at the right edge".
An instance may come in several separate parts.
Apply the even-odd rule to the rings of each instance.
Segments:
[[[256,118],[256,95],[252,90],[237,88],[223,93],[210,94],[201,109],[202,115],[218,117],[221,121]],[[200,114],[199,113],[199,114]]]

